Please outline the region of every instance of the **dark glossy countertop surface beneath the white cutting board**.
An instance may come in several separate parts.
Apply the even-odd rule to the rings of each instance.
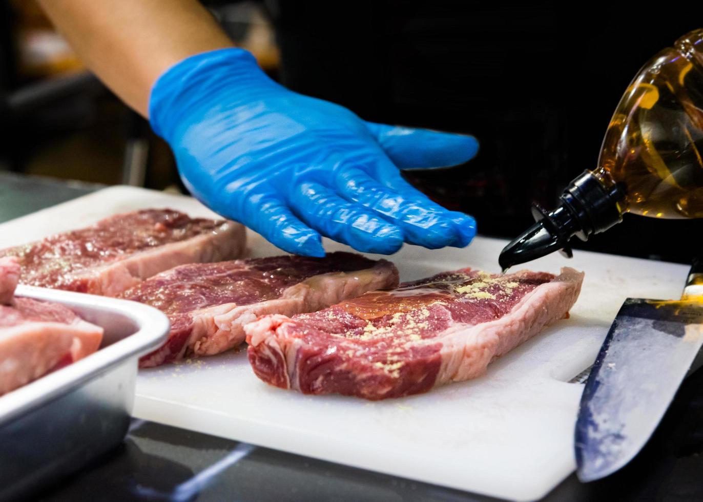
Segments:
[[[98,188],[0,173],[0,223]],[[701,453],[703,371],[698,371],[684,382],[650,442],[626,468],[590,484],[571,475],[544,500],[701,501]],[[195,499],[493,500],[143,420],[133,420],[122,446],[39,497],[47,502]]]

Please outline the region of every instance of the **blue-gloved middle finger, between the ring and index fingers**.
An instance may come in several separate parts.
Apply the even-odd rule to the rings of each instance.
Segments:
[[[446,211],[432,209],[432,202],[419,192],[419,197],[408,199],[354,167],[340,172],[336,181],[342,197],[392,221],[403,231],[407,243],[430,249],[456,245],[456,224],[445,216]]]

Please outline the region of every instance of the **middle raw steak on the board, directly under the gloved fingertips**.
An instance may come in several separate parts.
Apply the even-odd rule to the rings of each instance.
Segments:
[[[122,297],[150,304],[171,319],[166,344],[141,359],[158,366],[219,354],[244,341],[242,326],[264,314],[298,314],[398,284],[385,260],[335,252],[324,258],[280,256],[178,266]]]

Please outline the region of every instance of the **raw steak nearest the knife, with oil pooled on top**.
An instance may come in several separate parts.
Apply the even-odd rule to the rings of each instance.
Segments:
[[[304,394],[386,399],[482,375],[486,366],[568,316],[583,273],[462,269],[368,292],[313,314],[245,327],[254,373]]]

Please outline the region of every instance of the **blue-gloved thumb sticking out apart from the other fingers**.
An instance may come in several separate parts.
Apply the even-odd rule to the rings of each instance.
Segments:
[[[463,164],[479,143],[474,136],[366,122],[386,155],[400,169],[427,169]]]

